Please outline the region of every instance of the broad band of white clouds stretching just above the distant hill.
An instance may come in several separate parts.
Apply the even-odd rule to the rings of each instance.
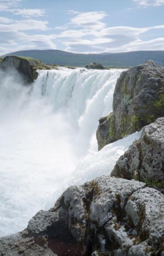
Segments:
[[[47,21],[0,17],[0,54],[22,49],[55,49],[57,43],[60,49],[77,53],[164,50],[164,25],[113,27],[103,22],[105,12],[70,13],[70,21],[54,29],[49,28]]]

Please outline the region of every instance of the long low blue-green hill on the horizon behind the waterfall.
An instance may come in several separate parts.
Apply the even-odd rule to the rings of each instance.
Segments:
[[[59,50],[28,50],[11,52],[4,56],[7,55],[33,57],[44,63],[79,67],[92,62],[101,63],[104,66],[135,66],[148,59],[152,59],[157,65],[164,66],[164,51],[78,54]]]

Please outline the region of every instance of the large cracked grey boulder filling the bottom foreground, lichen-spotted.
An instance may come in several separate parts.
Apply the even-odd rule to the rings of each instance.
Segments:
[[[164,256],[164,195],[100,177],[68,188],[26,230],[0,239],[0,256]]]

